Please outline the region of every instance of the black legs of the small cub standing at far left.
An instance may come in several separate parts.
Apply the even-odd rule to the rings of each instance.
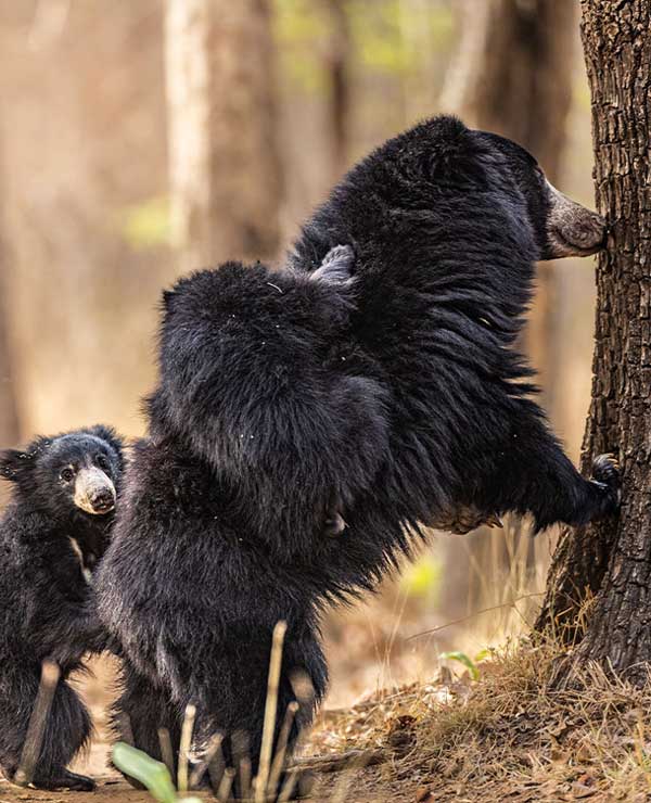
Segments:
[[[36,672],[29,676],[25,673],[21,683],[12,684],[12,699],[5,709],[11,723],[0,745],[0,761],[10,780],[13,780],[21,763],[28,725],[25,712],[31,710],[38,686],[39,676]],[[66,769],[88,741],[91,730],[90,715],[84,703],[65,680],[60,680],[46,723],[41,751],[31,779],[33,785],[37,789],[92,791],[95,785],[91,778]]]

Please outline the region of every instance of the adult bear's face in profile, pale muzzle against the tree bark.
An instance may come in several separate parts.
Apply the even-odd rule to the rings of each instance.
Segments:
[[[495,133],[475,131],[475,136],[501,154],[522,192],[540,259],[588,256],[605,245],[605,220],[559,192],[531,153]]]

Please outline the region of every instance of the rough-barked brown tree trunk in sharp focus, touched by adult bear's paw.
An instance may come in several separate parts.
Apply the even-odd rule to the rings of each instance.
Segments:
[[[577,659],[644,680],[651,659],[651,1],[582,0],[592,94],[597,203],[611,227],[597,272],[592,400],[583,467],[616,451],[618,521],[566,532],[551,568],[539,626],[575,621],[596,595]]]

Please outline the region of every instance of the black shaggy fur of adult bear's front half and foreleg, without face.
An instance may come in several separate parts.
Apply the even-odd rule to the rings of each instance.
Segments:
[[[473,509],[480,521],[529,513],[539,531],[616,508],[614,467],[596,464],[600,482],[578,474],[511,348],[535,262],[551,251],[549,209],[526,151],[438,117],[357,165],[295,245],[291,262],[305,270],[332,244],[354,245],[352,345],[391,393],[394,422],[371,505],[403,524]]]

